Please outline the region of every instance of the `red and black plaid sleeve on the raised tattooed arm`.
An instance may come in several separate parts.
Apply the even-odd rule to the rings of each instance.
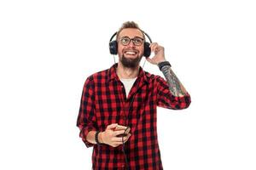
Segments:
[[[191,99],[189,93],[183,97],[174,96],[166,80],[162,77],[157,77],[158,88],[157,88],[157,105],[167,109],[182,110],[188,108]]]

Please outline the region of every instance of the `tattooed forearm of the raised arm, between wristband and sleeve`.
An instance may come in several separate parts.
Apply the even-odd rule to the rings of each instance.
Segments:
[[[166,77],[166,81],[169,85],[169,89],[172,92],[172,94],[174,96],[184,95],[185,93],[181,88],[181,82],[179,82],[177,76],[174,74],[171,67],[169,65],[165,65],[163,66],[161,71]]]

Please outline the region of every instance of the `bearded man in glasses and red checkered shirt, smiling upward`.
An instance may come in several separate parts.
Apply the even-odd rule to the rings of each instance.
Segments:
[[[77,126],[87,147],[93,146],[93,169],[163,169],[157,139],[156,108],[181,110],[190,96],[166,61],[164,48],[150,44],[166,80],[140,67],[144,32],[125,22],[116,35],[119,62],[87,78]]]

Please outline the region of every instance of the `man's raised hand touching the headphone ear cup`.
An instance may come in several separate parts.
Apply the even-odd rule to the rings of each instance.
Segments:
[[[154,52],[154,57],[152,57],[151,59],[149,57],[146,58],[149,63],[157,65],[162,61],[166,61],[165,48],[158,45],[157,42],[151,43],[149,47],[151,48],[151,52]]]

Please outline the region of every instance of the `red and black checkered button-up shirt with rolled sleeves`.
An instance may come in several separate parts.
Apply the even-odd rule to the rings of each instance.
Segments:
[[[93,74],[84,83],[77,126],[84,144],[93,146],[92,167],[97,170],[124,169],[122,144],[118,147],[90,144],[85,138],[91,130],[104,131],[108,125],[118,123],[131,127],[131,137],[125,143],[130,169],[163,169],[157,139],[156,107],[174,110],[187,108],[190,104],[189,94],[173,96],[162,77],[140,68],[126,98],[124,85],[116,74],[116,66]]]

